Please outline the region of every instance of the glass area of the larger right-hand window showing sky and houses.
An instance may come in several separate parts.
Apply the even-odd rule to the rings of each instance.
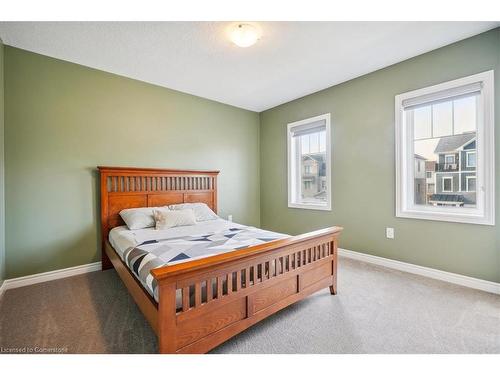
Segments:
[[[475,180],[472,179],[476,175],[475,106],[476,99],[472,97],[435,103],[410,112],[414,127],[414,204],[476,206]]]

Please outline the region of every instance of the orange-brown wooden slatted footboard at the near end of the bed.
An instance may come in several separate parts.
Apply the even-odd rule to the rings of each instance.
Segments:
[[[159,285],[160,352],[206,353],[318,290],[330,287],[336,294],[341,230],[323,229],[152,270]]]

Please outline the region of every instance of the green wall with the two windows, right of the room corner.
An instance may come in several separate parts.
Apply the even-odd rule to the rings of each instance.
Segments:
[[[500,282],[499,226],[395,217],[394,96],[495,69],[500,167],[500,29],[280,105],[261,118],[261,225],[292,234],[341,225],[341,247]],[[331,212],[287,207],[286,124],[332,116]],[[500,180],[496,175],[497,222]],[[385,238],[395,228],[395,239]]]

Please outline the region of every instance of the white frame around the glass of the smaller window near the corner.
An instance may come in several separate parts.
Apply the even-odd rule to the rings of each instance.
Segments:
[[[312,124],[318,121],[325,122],[325,151],[326,151],[326,202],[324,204],[317,203],[297,203],[294,197],[297,195],[297,176],[295,175],[297,171],[300,173],[300,168],[295,168],[297,164],[297,155],[292,155],[293,147],[293,131],[292,129],[297,126]],[[331,122],[330,113],[325,113],[323,115],[311,117],[308,119],[295,121],[287,125],[287,166],[288,166],[288,207],[290,208],[302,208],[307,210],[332,210],[332,157],[331,157]]]

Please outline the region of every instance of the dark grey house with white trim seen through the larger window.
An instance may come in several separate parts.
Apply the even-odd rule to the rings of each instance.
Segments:
[[[476,133],[443,137],[434,150],[438,156],[435,194],[429,203],[435,206],[476,204]]]

